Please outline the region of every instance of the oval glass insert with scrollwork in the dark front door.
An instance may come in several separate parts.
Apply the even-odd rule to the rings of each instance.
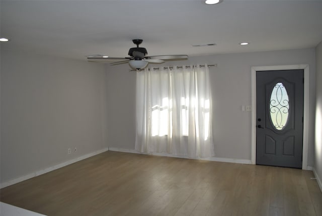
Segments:
[[[289,117],[288,110],[287,91],[282,83],[277,83],[270,98],[270,117],[275,129],[282,130],[286,126]]]

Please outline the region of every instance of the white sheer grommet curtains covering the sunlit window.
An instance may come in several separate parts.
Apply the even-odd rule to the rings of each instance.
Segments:
[[[214,156],[210,91],[207,65],[137,72],[135,149]]]

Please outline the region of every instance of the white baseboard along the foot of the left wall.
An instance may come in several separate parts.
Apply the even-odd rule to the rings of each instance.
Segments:
[[[90,158],[92,156],[95,156],[95,155],[98,155],[98,154],[101,154],[103,152],[106,152],[106,151],[109,151],[108,148],[105,148],[105,149],[102,149],[102,150],[99,150],[99,151],[96,151],[96,152],[92,152],[92,153],[89,153],[89,154],[86,154],[86,155],[83,155],[81,157],[78,157],[78,158],[74,158],[72,160],[69,160],[69,161],[66,161],[66,162],[63,162],[61,164],[57,164],[55,166],[52,166],[52,167],[48,167],[48,168],[45,168],[43,170],[40,170],[40,171],[36,171],[34,173],[30,173],[30,174],[27,174],[27,175],[24,175],[24,176],[21,176],[19,178],[16,178],[16,179],[13,179],[13,180],[10,180],[10,181],[7,181],[7,182],[4,182],[1,184],[0,188],[4,188],[4,187],[8,187],[10,185],[13,185],[13,184],[17,184],[19,182],[22,182],[22,181],[25,181],[27,179],[30,179],[30,178],[33,178],[33,177],[36,177],[36,176],[39,176],[39,175],[42,175],[42,174],[45,174],[45,173],[48,173],[48,172],[51,172],[53,170],[56,170],[56,169],[59,169],[61,167],[64,167],[64,166],[67,166],[69,164],[73,164],[77,161],[82,161],[84,159],[87,159],[87,158]]]

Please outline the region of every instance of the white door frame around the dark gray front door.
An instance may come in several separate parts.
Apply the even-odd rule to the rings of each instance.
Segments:
[[[302,169],[307,170],[309,66],[308,64],[252,67],[252,164],[256,164],[256,71],[304,69],[303,152]]]

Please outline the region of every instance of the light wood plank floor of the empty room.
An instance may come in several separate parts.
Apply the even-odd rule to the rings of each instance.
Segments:
[[[47,215],[322,215],[310,171],[105,152],[1,189]]]

